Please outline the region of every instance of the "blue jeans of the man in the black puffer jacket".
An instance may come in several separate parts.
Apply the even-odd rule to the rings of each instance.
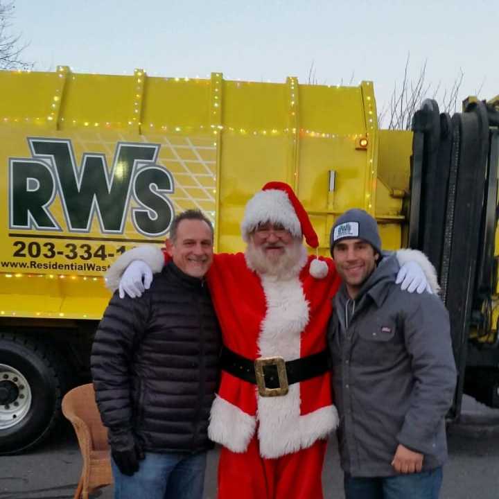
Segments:
[[[111,459],[114,499],[202,499],[207,453],[146,453],[132,476]]]

